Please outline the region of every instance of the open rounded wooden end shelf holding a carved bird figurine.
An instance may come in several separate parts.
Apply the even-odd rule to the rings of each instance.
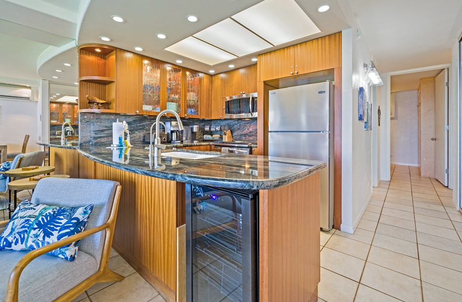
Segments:
[[[103,109],[89,109],[87,95],[110,104],[103,104]],[[115,47],[79,47],[79,105],[81,112],[115,112]]]

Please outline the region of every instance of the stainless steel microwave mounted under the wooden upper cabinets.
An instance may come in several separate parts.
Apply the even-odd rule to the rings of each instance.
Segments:
[[[257,93],[223,98],[225,118],[257,117]]]

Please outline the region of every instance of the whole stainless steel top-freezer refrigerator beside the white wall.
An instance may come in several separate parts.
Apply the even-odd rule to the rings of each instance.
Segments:
[[[334,85],[322,82],[271,90],[268,121],[269,156],[327,163],[320,172],[320,227],[330,230],[334,224]]]

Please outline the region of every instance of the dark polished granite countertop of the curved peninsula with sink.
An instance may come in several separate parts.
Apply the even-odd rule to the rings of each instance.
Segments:
[[[108,148],[104,145],[62,146],[49,141],[38,144],[77,148],[83,156],[120,170],[195,185],[234,189],[274,189],[309,176],[326,167],[325,162],[279,157],[240,155],[198,150],[175,150],[204,155],[218,155],[206,159],[164,157],[153,163],[146,145],[131,148]],[[162,153],[173,150],[163,150]]]

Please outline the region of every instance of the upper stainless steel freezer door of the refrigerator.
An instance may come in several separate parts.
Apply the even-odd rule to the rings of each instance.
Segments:
[[[323,82],[271,90],[269,131],[329,131],[333,87]]]

